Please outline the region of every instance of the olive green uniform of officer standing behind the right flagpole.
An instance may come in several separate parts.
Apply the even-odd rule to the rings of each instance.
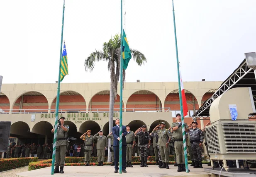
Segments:
[[[179,123],[175,122],[171,124],[171,128],[178,127]],[[188,128],[188,125],[185,123],[185,128]],[[173,131],[173,140],[174,140],[174,149],[177,158],[177,164],[185,164],[184,157],[184,147],[183,147],[183,134],[182,134],[182,126],[178,128],[178,130]]]

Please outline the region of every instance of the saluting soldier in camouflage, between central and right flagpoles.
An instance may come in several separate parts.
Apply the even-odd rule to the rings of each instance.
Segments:
[[[142,163],[141,167],[149,167],[147,165],[149,146],[150,146],[150,140],[151,140],[149,136],[149,132],[146,132],[146,126],[143,125],[142,127],[139,127],[134,134],[139,135],[139,151],[140,151],[141,163]]]

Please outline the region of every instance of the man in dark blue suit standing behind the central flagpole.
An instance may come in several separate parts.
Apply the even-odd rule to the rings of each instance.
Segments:
[[[120,120],[117,118],[115,120],[116,126],[112,128],[112,134],[114,136],[114,156],[115,156],[115,173],[118,172],[118,162],[119,162],[119,125],[120,125]],[[125,167],[125,162],[126,162],[126,138],[125,136],[127,135],[126,127],[123,125],[122,126],[122,172],[126,173],[126,167]]]

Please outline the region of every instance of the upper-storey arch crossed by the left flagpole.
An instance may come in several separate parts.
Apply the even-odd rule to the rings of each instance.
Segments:
[[[56,96],[51,101],[51,112],[56,109]],[[59,112],[86,112],[85,98],[79,92],[66,90],[60,93]]]

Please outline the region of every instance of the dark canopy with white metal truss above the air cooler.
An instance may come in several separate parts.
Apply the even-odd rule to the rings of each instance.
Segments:
[[[209,118],[210,106],[212,102],[231,88],[236,87],[251,87],[254,97],[254,104],[256,104],[256,81],[254,71],[247,67],[246,60],[239,65],[238,68],[221,84],[218,90],[207,99],[198,111],[192,116],[193,119]]]

